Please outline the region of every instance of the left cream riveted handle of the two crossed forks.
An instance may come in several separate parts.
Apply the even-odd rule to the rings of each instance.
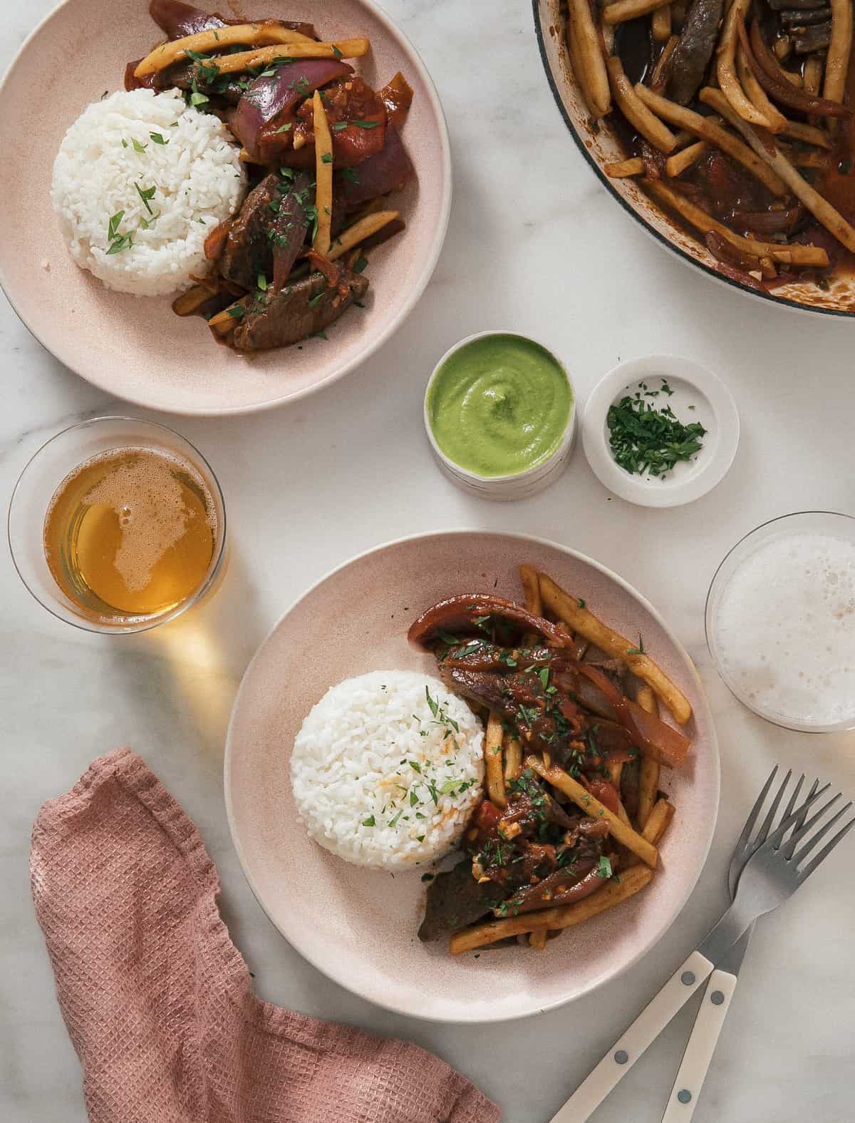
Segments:
[[[551,1123],[585,1123],[590,1119],[620,1077],[629,1071],[711,970],[712,964],[707,957],[692,951],[590,1076],[579,1085],[558,1114],[552,1116]]]

